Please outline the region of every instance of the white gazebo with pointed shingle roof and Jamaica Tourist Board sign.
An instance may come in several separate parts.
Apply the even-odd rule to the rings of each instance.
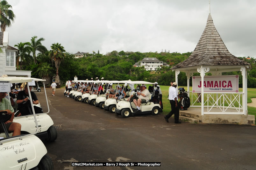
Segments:
[[[190,107],[192,107],[188,109],[188,112],[189,110],[193,110],[193,112],[201,113],[199,114],[200,116],[197,116],[201,118],[203,123],[252,124],[252,121],[255,121],[254,116],[251,117],[252,115],[250,115],[250,121],[247,119],[247,71],[251,68],[250,63],[235,57],[228,51],[213,25],[213,20],[209,12],[206,27],[195,50],[186,60],[171,69],[175,71],[175,81],[177,83],[178,74],[180,72],[186,73],[188,95],[191,97]],[[205,82],[207,77],[205,76],[206,73],[211,73],[212,79],[216,78],[221,80],[226,78],[222,76],[222,73],[232,71],[241,71],[243,77],[242,92],[239,92],[238,87],[235,91],[230,90],[224,92],[218,90],[204,90],[207,85],[214,83],[214,81],[209,84]],[[194,73],[200,73],[201,77],[193,76]],[[235,76],[238,81],[238,75]],[[192,77],[193,81],[196,78],[201,80],[201,90],[199,92],[193,90],[191,93],[189,91],[190,77]],[[213,87],[213,84],[210,84],[210,86]],[[224,86],[226,85],[224,84]],[[200,97],[202,102],[199,100]],[[200,105],[197,104],[198,102]],[[201,107],[201,110],[195,110],[196,108],[193,107]]]

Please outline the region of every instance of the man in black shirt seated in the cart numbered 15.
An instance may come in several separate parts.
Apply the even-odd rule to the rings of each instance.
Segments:
[[[30,89],[32,100],[33,100],[33,104],[39,104],[36,94],[31,91],[32,87],[29,87],[29,89]],[[20,111],[22,116],[29,115],[32,113],[32,108],[29,100],[30,99],[28,95],[28,88],[26,85],[25,90],[20,91],[17,96],[18,110]],[[34,109],[35,109],[35,113],[43,113],[40,107],[34,106]]]

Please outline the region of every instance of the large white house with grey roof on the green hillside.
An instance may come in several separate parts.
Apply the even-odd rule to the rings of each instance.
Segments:
[[[158,60],[157,58],[144,58],[143,60],[135,63],[133,67],[142,67],[144,66],[147,71],[155,71],[157,68],[169,67],[167,63]]]

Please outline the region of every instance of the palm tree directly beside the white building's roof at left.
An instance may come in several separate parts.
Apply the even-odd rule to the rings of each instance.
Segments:
[[[19,63],[20,70],[22,70],[22,61],[27,59],[30,56],[29,55],[29,53],[30,53],[29,44],[30,44],[29,42],[25,42],[25,43],[20,42],[20,43],[14,45],[19,50],[18,55],[17,55],[17,57],[18,57],[17,58],[17,63],[18,63],[18,60],[20,58],[20,63]],[[17,64],[17,66],[18,66],[18,64]]]

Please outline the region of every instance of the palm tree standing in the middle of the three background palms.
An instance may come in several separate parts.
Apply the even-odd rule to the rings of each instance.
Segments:
[[[39,38],[38,40],[37,36],[31,37],[31,43],[29,44],[30,46],[30,51],[33,54],[34,58],[34,63],[37,63],[36,60],[36,51],[39,51],[40,53],[45,53],[47,51],[46,47],[42,45],[41,41],[44,41],[44,38]]]

